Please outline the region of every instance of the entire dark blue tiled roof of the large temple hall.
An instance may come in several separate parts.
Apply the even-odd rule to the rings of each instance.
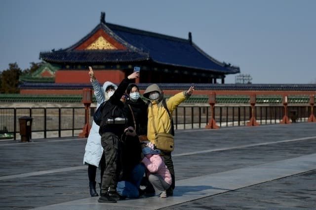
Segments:
[[[91,35],[102,29],[127,50],[76,50]],[[51,63],[119,63],[150,60],[158,64],[230,74],[238,67],[219,62],[207,55],[190,39],[161,35],[101,22],[73,46],[41,52],[40,58]]]

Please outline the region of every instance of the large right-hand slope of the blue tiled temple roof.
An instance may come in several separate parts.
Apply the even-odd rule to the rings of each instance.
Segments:
[[[188,39],[144,32],[109,23],[107,26],[131,45],[149,53],[151,59],[157,63],[225,73],[239,72],[239,68],[228,67],[211,58]]]

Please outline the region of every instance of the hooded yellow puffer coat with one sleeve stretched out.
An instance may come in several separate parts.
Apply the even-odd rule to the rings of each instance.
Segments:
[[[151,87],[153,86],[154,87]],[[153,120],[155,120],[155,126],[157,133],[170,133],[171,132],[171,120],[168,115],[167,110],[163,107],[162,104],[162,98],[163,93],[160,91],[158,85],[153,84],[150,87],[146,89],[144,92],[144,97],[148,98],[148,93],[153,91],[153,88],[158,88],[158,91],[160,93],[160,98],[156,101],[151,101],[151,104],[148,106],[148,124],[147,124],[147,138],[152,143],[155,143],[155,131],[153,126]],[[156,86],[157,87],[156,87]],[[148,91],[151,90],[151,91]],[[169,112],[172,116],[173,110],[177,108],[178,105],[180,105],[182,102],[184,102],[187,98],[190,96],[186,95],[186,91],[180,92],[172,97],[170,97],[168,100],[166,100],[167,107],[169,109]],[[154,116],[153,116],[154,114]]]

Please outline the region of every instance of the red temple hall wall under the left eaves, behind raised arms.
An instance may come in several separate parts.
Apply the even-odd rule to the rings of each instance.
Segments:
[[[90,83],[88,70],[58,70],[55,83]],[[94,70],[95,77],[102,84],[105,81],[120,83],[125,78],[122,70]]]

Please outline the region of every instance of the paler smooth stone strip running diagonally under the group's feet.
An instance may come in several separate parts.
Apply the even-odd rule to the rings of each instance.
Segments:
[[[244,167],[217,174],[202,175],[176,182],[173,197],[162,199],[149,197],[127,199],[116,204],[98,203],[98,197],[80,199],[45,207],[38,210],[104,210],[138,209],[152,210],[170,207],[200,198],[236,190],[239,188],[296,175],[316,169],[316,153],[296,158]]]

